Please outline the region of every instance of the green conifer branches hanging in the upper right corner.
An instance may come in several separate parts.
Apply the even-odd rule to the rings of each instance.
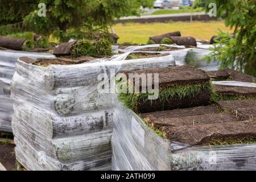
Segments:
[[[208,59],[218,59],[221,67],[231,67],[256,77],[256,3],[255,0],[197,0],[196,5],[216,3],[217,16],[225,17],[225,24],[234,28],[233,35],[219,32]]]

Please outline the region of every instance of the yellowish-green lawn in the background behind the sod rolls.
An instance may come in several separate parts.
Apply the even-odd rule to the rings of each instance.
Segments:
[[[141,43],[147,42],[150,36],[165,34],[172,31],[180,31],[182,36],[193,36],[196,39],[210,40],[217,34],[218,28],[229,31],[224,21],[193,21],[193,22],[170,22],[170,23],[118,23],[114,26],[119,36],[119,43]]]

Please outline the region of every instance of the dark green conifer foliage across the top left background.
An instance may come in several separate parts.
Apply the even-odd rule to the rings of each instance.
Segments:
[[[38,3],[41,2],[46,3],[46,17],[38,16]],[[108,30],[108,26],[112,26],[115,19],[139,15],[142,2],[142,0],[14,0],[11,2],[0,0],[0,23],[6,26],[22,21],[24,31],[34,31],[44,35],[54,33],[61,37],[70,31]]]

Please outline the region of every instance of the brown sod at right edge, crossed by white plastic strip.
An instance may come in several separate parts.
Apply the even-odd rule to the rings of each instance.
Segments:
[[[256,78],[232,69],[207,72],[214,81],[241,81],[255,83]],[[243,86],[214,85],[214,101],[220,100],[256,100],[256,88]]]

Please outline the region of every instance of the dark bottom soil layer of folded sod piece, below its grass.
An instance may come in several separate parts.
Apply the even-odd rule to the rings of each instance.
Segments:
[[[185,107],[204,106],[210,104],[210,90],[203,89],[195,96],[188,96],[184,98],[172,97],[168,98],[163,103],[158,98],[157,100],[139,100],[137,101],[137,111],[139,113],[150,113],[160,110],[172,110]]]

